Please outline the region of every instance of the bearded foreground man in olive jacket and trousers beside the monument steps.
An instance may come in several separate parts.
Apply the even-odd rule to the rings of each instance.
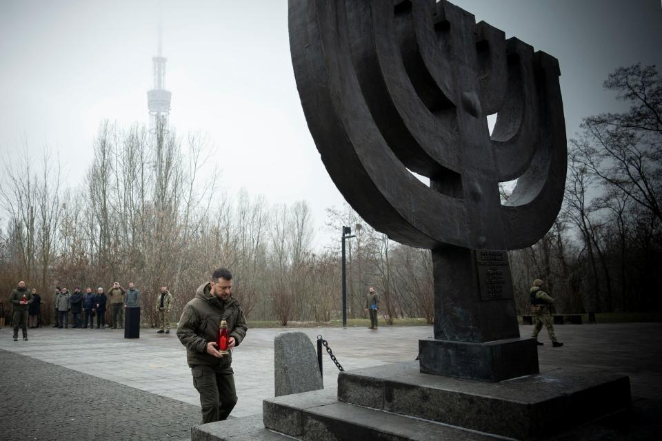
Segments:
[[[200,393],[201,424],[225,420],[237,404],[232,371],[232,347],[239,346],[248,327],[237,299],[232,297],[232,273],[219,268],[210,283],[201,285],[179,319],[177,337],[186,347],[193,385]],[[229,353],[217,348],[221,320],[228,323]]]

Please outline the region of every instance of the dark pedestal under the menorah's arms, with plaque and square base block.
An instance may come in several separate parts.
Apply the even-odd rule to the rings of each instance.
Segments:
[[[421,372],[479,381],[539,373],[520,338],[508,254],[459,247],[432,252],[434,340],[419,341]]]

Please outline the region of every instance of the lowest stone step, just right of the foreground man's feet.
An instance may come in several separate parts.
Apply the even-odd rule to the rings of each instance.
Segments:
[[[230,418],[191,428],[191,441],[292,441],[287,435],[265,429],[262,415]]]

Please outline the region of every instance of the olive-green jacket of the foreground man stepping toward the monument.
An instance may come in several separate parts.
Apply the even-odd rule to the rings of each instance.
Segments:
[[[234,297],[221,300],[211,294],[211,283],[205,283],[197,289],[193,300],[185,305],[177,328],[177,337],[186,347],[186,361],[190,367],[229,366],[232,363],[232,351],[223,358],[207,353],[208,342],[217,339],[221,320],[228,322],[230,337],[234,337],[234,345],[239,346],[248,330],[239,302]]]

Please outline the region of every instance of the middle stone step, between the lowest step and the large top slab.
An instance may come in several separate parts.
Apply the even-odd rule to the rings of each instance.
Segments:
[[[493,441],[486,433],[339,402],[334,391],[270,398],[264,427],[304,441]]]

